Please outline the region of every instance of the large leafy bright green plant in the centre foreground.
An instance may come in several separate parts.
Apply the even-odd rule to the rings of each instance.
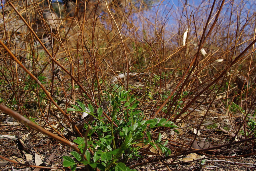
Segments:
[[[135,146],[138,143],[150,144],[155,149],[158,146],[166,156],[170,154],[170,150],[165,147],[168,141],[162,142],[161,133],[154,141],[151,138],[151,130],[156,127],[177,126],[166,119],[144,120],[143,112],[136,109],[139,101],[129,94],[130,90],[125,91],[115,87],[114,92],[110,98],[112,122],[102,117],[102,108],[98,108],[97,113],[93,113],[93,106],[88,104],[89,115],[97,120],[84,127],[88,130],[88,140],[81,137],[74,140],[79,144],[78,148],[86,158],[77,152],[71,152],[78,162],[69,156],[64,156],[63,166],[70,166],[71,170],[75,170],[76,164],[83,163],[93,169],[97,167],[100,170],[131,170],[125,163],[142,157],[141,152],[138,151],[141,147]],[[78,103],[81,109],[72,105],[73,108],[68,108],[67,111],[86,112],[85,105]],[[118,127],[115,127],[114,123],[118,123]],[[88,148],[94,152],[93,156],[86,150]]]

